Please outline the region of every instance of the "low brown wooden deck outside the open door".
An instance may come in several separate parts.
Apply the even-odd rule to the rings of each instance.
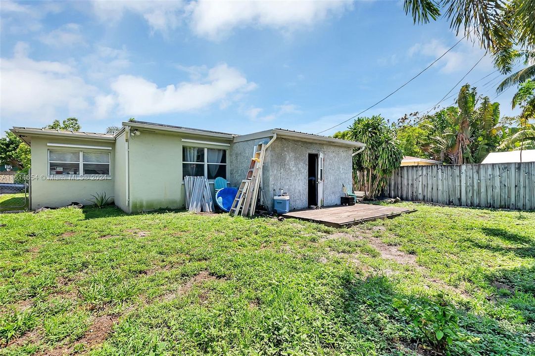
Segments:
[[[343,227],[377,219],[392,219],[401,214],[415,211],[391,205],[355,204],[353,206],[327,206],[322,209],[294,210],[282,214],[282,216],[322,223],[332,227]]]

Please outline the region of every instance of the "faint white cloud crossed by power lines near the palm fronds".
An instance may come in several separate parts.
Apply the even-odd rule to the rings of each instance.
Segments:
[[[407,53],[412,58],[424,56],[434,59],[440,57],[449,47],[450,45],[445,45],[443,42],[435,39],[427,43],[416,43]],[[465,41],[459,43],[453,50],[446,53],[436,65],[440,66],[440,72],[445,74],[468,71],[484,53],[485,50]],[[479,69],[485,70],[492,69],[492,67],[490,56],[484,58],[478,65]]]

